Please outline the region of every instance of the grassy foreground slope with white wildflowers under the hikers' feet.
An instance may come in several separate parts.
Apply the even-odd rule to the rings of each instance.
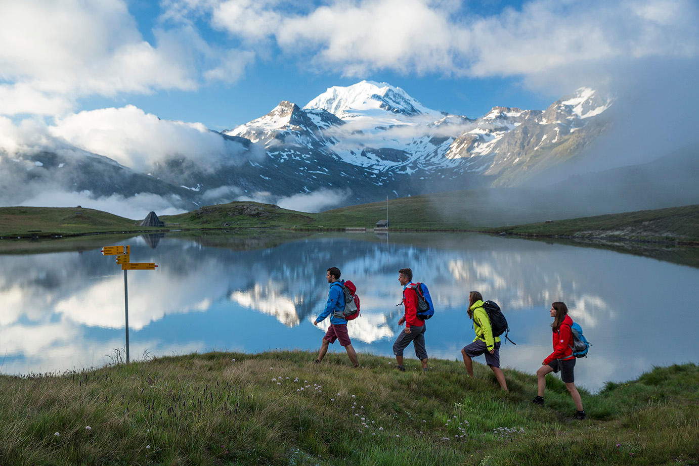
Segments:
[[[466,379],[456,361],[433,359],[431,371],[422,374],[417,361],[398,372],[388,358],[359,357],[359,370],[349,367],[345,354],[330,353],[314,365],[315,354],[303,351],[219,352],[60,375],[0,376],[0,464],[699,460],[695,364],[656,367],[596,395],[581,391],[589,418],[580,422],[571,420],[572,400],[553,377],[545,407],[537,407],[530,402],[535,377],[514,370],[505,370],[510,393],[502,393],[483,365],[475,365],[475,379]]]

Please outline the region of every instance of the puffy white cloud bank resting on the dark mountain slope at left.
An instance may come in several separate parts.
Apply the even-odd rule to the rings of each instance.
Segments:
[[[147,172],[154,163],[187,158],[204,170],[243,161],[245,147],[201,123],[159,119],[134,105],[89,110],[57,119],[50,132],[75,147]]]

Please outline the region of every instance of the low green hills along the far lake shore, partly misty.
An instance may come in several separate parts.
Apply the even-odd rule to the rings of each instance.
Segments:
[[[466,194],[464,194],[466,193]],[[465,197],[460,197],[463,194]],[[513,224],[512,219],[542,218],[522,214],[519,205],[483,199],[477,191],[438,193],[399,198],[388,202],[391,231],[478,231],[511,233],[543,238],[600,238],[654,242],[699,243],[699,205],[641,210],[595,217]],[[497,208],[493,205],[498,205]],[[536,207],[539,208],[539,207]],[[540,208],[545,210],[545,206]],[[0,207],[3,239],[85,233],[206,230],[235,228],[290,228],[295,230],[344,230],[373,228],[386,218],[386,202],[353,205],[317,214],[287,210],[272,204],[233,202],[201,207],[192,212],[164,215],[164,228],[142,227],[140,221],[107,212],[77,207]],[[552,213],[552,212],[549,212]],[[552,218],[562,218],[562,214]],[[546,218],[546,217],[544,217]]]

